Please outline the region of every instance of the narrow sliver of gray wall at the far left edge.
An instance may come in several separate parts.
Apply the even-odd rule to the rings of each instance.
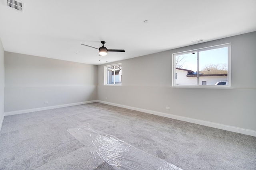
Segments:
[[[4,120],[4,47],[0,39],[0,131]]]

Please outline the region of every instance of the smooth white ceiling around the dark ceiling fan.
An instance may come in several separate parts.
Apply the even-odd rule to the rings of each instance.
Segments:
[[[0,0],[4,50],[104,64],[256,31],[256,0]],[[148,23],[144,23],[148,20]],[[125,49],[98,56],[108,49]]]

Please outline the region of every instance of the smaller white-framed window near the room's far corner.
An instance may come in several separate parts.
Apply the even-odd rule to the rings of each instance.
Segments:
[[[122,83],[122,64],[105,66],[105,85]]]

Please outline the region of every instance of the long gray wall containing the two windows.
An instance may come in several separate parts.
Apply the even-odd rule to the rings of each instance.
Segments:
[[[231,89],[172,87],[172,53],[224,43],[231,43]],[[122,86],[104,86],[98,66],[100,101],[256,131],[256,32],[115,63],[122,63]]]

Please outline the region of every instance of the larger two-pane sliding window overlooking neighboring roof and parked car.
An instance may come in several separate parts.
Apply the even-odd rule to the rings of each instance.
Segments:
[[[230,43],[172,55],[172,86],[230,87]]]

